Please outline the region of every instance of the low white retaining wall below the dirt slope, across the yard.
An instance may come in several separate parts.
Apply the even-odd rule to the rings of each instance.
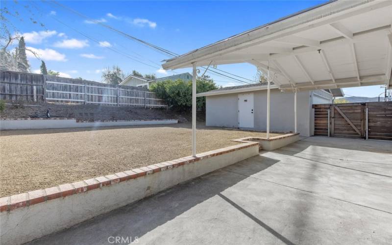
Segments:
[[[49,129],[49,128],[74,128],[74,127],[107,127],[107,126],[131,126],[172,124],[178,120],[123,120],[123,121],[76,121],[76,119],[38,118],[38,119],[2,119],[0,130],[14,129]]]

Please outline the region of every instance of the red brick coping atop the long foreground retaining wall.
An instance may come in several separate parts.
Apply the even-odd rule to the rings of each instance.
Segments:
[[[129,171],[86,179],[74,182],[72,184],[68,183],[51,188],[46,188],[45,190],[41,189],[13,196],[0,197],[0,212],[12,211],[17,208],[31,206],[52,199],[76,195],[78,193],[88,192],[98,188],[104,188],[105,186],[114,185],[123,181],[143,177],[156,172],[162,172],[172,168],[178,168],[185,164],[196,163],[197,161],[200,161],[202,159],[219,156],[221,154],[244,149],[247,147],[252,147],[255,145],[258,145],[258,143],[246,142],[231,147],[224,147],[217,150],[199,153],[196,154],[196,157],[186,156],[172,161],[149,165],[147,167],[141,167]]]

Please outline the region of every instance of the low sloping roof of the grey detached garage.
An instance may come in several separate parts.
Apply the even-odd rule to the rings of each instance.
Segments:
[[[271,85],[271,89],[277,89],[276,85]],[[266,83],[254,83],[254,84],[246,84],[241,86],[232,86],[232,87],[224,87],[221,89],[211,90],[204,93],[199,93],[196,97],[203,97],[203,96],[213,96],[213,95],[224,95],[224,94],[233,94],[233,93],[245,93],[245,92],[252,92],[252,91],[259,91],[259,90],[267,90]],[[343,96],[342,89],[331,89],[331,94],[334,97],[341,97]]]

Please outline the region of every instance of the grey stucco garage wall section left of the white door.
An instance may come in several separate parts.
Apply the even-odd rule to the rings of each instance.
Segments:
[[[238,127],[238,95],[207,96],[205,114],[207,126]]]

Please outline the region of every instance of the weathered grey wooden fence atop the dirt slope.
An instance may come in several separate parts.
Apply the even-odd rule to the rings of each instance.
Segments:
[[[0,76],[1,99],[6,100],[167,107],[155,93],[138,87],[32,73],[1,71]]]

